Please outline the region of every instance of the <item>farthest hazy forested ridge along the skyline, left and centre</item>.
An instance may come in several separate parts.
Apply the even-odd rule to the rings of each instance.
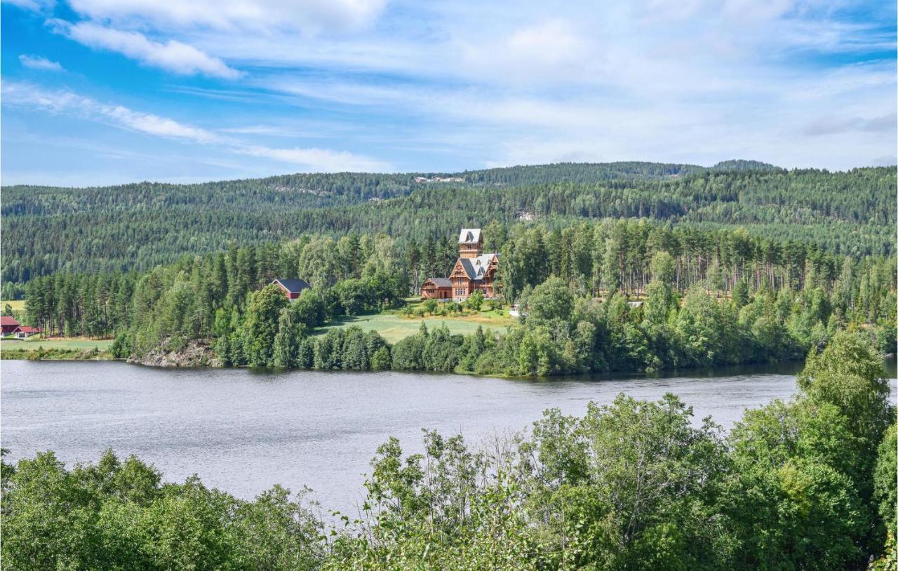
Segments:
[[[57,215],[133,208],[158,210],[179,205],[242,207],[245,202],[258,200],[272,206],[321,207],[401,197],[433,183],[442,188],[447,185],[590,184],[603,180],[663,179],[702,171],[708,169],[691,164],[557,163],[464,172],[296,173],[201,184],[140,182],[85,189],[20,185],[4,187],[3,215]]]

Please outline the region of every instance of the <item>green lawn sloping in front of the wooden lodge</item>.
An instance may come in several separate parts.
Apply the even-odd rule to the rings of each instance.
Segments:
[[[507,313],[507,312],[506,312]],[[453,333],[467,335],[477,330],[479,326],[483,329],[496,329],[504,331],[505,328],[515,320],[506,316],[499,316],[496,312],[483,312],[464,317],[416,317],[410,318],[405,315],[386,312],[375,315],[359,315],[357,317],[344,318],[340,321],[331,323],[326,327],[318,329],[315,334],[322,335],[328,329],[335,327],[345,327],[348,325],[357,325],[365,331],[377,331],[381,337],[391,343],[395,343],[403,338],[418,333],[421,323],[427,323],[428,328],[439,327],[445,323]]]

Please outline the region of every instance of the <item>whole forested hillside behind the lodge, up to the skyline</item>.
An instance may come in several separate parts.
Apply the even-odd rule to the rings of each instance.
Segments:
[[[559,163],[409,174],[293,174],[193,185],[3,189],[4,282],[57,271],[152,268],[227,242],[300,233],[442,236],[497,220],[559,227],[646,217],[742,225],[835,253],[894,252],[895,169],[786,171],[751,161],[715,167]]]

